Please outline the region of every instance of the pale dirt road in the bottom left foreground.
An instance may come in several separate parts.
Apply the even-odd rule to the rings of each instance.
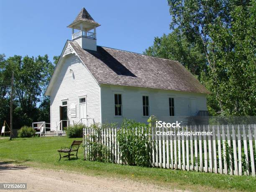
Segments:
[[[163,187],[152,184],[147,185],[128,179],[92,177],[84,174],[16,166],[14,164],[0,164],[0,180],[1,183],[27,183],[27,191],[36,192],[167,191]]]

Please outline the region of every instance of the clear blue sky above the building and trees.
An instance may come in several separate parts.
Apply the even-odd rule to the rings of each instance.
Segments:
[[[97,45],[143,53],[170,33],[167,0],[0,0],[0,54],[61,54],[84,7],[100,23]]]

